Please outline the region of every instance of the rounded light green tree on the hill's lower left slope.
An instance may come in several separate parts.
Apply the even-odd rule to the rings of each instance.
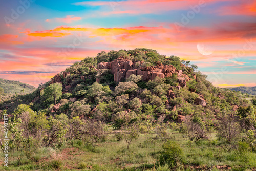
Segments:
[[[62,84],[61,83],[53,83],[48,86],[44,90],[44,96],[47,101],[54,100],[54,105],[56,104],[56,100],[58,100],[62,95]]]

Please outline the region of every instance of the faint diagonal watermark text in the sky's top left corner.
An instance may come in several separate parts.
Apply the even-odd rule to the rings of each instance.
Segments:
[[[11,17],[4,17],[6,26],[10,27],[10,24],[14,23],[15,20],[17,20],[20,17],[20,15],[23,14],[26,11],[26,9],[30,7],[31,3],[34,3],[35,1],[36,0],[20,0],[20,6],[18,6],[16,10],[14,10],[13,8],[11,9]]]

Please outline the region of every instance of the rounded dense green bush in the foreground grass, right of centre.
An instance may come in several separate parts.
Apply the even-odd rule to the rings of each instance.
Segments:
[[[170,168],[174,168],[178,163],[182,162],[182,154],[183,151],[178,143],[168,141],[162,146],[159,163],[161,166],[167,164]]]

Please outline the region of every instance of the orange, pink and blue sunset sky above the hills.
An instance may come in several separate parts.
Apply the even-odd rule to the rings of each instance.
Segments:
[[[101,51],[150,48],[215,86],[256,86],[256,0],[9,0],[0,19],[0,78],[37,87]]]

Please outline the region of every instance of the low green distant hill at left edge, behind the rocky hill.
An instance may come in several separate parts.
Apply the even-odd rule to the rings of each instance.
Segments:
[[[20,93],[24,89],[24,93],[32,93],[36,88],[29,84],[12,81],[0,78],[0,87],[4,89],[5,93]]]

